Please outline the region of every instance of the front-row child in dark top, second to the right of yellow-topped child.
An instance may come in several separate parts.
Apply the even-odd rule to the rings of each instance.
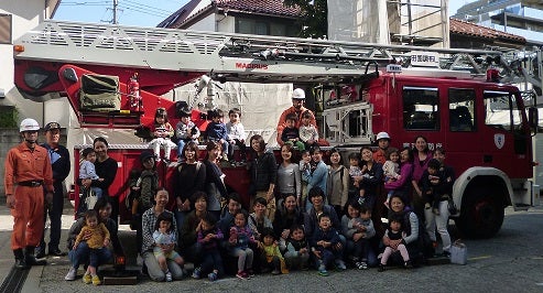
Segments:
[[[318,229],[315,229],[311,240],[312,251],[316,258],[318,274],[327,276],[326,270],[332,263],[336,264],[339,270],[346,270],[345,262],[341,258],[343,246],[339,235],[332,227],[330,216],[323,213],[318,216]]]

